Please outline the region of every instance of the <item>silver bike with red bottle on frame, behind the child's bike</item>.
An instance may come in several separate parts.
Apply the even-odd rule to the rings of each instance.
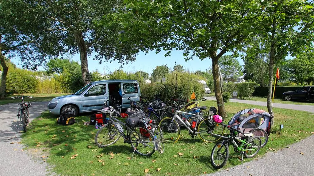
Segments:
[[[204,106],[196,106],[194,108],[200,110],[206,109],[206,107]],[[178,116],[178,114],[193,116],[192,125],[190,122],[188,122],[187,119],[183,121],[182,118]],[[187,128],[192,138],[194,138],[196,135],[199,135],[199,137],[205,142],[218,141],[220,137],[213,136],[213,134],[223,135],[225,130],[224,126],[221,126],[214,122],[213,116],[208,116],[203,119],[203,117],[198,114],[176,110],[172,118],[165,117],[159,123],[165,142],[175,143],[179,140],[181,134],[179,123],[183,124],[183,126]]]

